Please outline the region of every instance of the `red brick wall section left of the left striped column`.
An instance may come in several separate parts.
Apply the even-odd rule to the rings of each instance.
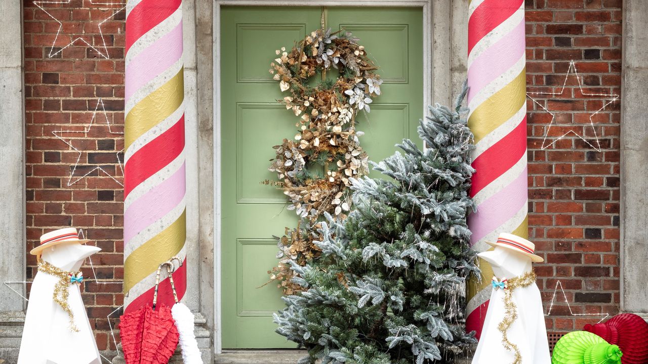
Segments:
[[[65,2],[65,1],[61,1]],[[93,3],[109,3],[95,0]],[[114,1],[117,2],[117,1]],[[90,0],[71,0],[69,4],[43,4],[47,13],[32,1],[25,0],[25,108],[27,128],[27,249],[38,245],[40,235],[73,226],[84,229],[87,237],[102,251],[92,257],[95,274],[88,265],[82,293],[88,307],[91,324],[97,333],[100,350],[114,350],[109,341],[110,328],[106,315],[122,304],[122,187],[104,172],[123,183],[122,170],[116,153],[123,148],[121,135],[124,120],[124,10],[102,24],[103,40],[98,23],[119,10],[121,6],[93,5]],[[81,34],[89,33],[89,36]],[[61,47],[81,36],[95,45],[101,56],[83,41],[55,54]],[[55,44],[51,52],[52,43]],[[101,98],[95,122],[84,133],[60,133],[81,155],[52,131],[84,130],[89,126],[93,111]],[[72,181],[89,175],[68,186],[71,168],[79,158]],[[122,156],[120,157],[122,159]],[[95,244],[95,243],[91,243]],[[27,256],[27,278],[36,273],[36,259]],[[94,279],[100,283],[97,284]],[[117,313],[119,316],[119,313]],[[115,320],[112,321],[113,324]]]

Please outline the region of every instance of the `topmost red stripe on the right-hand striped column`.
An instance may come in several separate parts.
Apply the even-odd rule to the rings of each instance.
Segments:
[[[513,15],[523,2],[524,0],[485,0],[477,6],[468,20],[468,54],[481,38]]]

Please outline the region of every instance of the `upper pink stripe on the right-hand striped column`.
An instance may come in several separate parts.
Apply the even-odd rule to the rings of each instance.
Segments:
[[[524,47],[511,47],[514,44],[524,44],[524,37],[524,19],[522,19],[509,34],[496,41],[470,64],[468,69],[470,89],[467,95],[469,104],[481,89],[513,67],[524,56]]]

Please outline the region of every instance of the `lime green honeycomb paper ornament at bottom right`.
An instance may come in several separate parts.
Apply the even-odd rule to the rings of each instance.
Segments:
[[[575,331],[553,348],[551,364],[620,364],[621,349],[591,332]]]

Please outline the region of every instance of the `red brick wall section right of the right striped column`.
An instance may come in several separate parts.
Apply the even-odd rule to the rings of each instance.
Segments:
[[[527,91],[559,92],[570,60],[583,93],[621,92],[621,0],[526,0]],[[550,138],[573,130],[596,146],[590,115],[601,97],[581,94],[570,76],[558,100],[534,96],[555,114]],[[551,301],[562,282],[573,313],[618,312],[619,304],[619,101],[598,113],[597,152],[570,134],[542,149],[551,115],[527,103],[529,236],[546,257],[537,266],[540,288]],[[581,329],[601,316],[573,316],[557,295],[550,330]]]

